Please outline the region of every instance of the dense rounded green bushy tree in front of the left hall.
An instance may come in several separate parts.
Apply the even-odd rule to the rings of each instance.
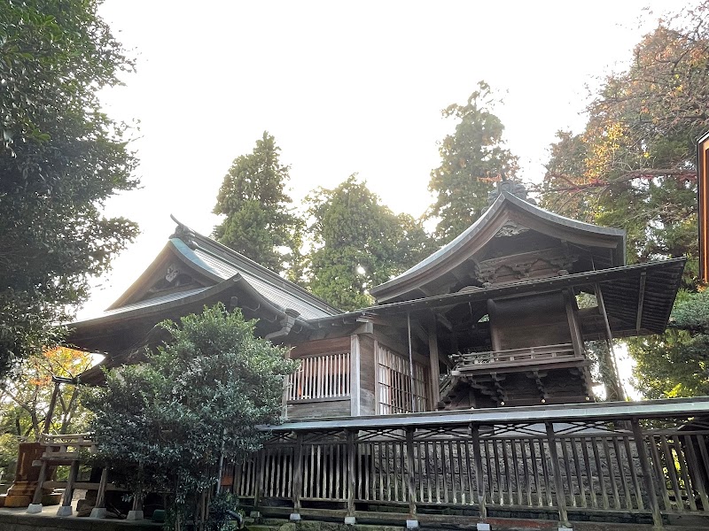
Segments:
[[[84,400],[96,415],[98,459],[127,471],[136,496],[171,492],[180,522],[220,477],[221,460],[260,448],[257,426],[279,421],[284,376],[295,363],[222,304],[162,326],[172,336],[167,345],[144,364],[113,369],[106,387]]]

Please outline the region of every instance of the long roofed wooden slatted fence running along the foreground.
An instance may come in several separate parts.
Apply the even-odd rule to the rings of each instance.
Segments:
[[[457,507],[483,520],[551,512],[562,524],[571,514],[656,525],[709,515],[709,424],[669,402],[659,413],[657,403],[567,404],[301,421],[274,428],[237,466],[234,489],[266,512],[330,503],[416,519]]]

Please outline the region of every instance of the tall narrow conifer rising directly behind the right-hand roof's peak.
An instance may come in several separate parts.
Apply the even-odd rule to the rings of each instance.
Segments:
[[[492,181],[517,172],[517,158],[503,148],[504,126],[492,113],[494,104],[490,87],[479,81],[467,104],[452,104],[442,112],[459,121],[456,132],[440,142],[440,166],[432,170],[428,185],[436,201],[427,216],[439,219],[435,235],[440,243],[453,240],[485,212]]]

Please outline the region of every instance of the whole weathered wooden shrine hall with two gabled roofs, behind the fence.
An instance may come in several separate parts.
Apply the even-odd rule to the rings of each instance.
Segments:
[[[163,319],[222,302],[301,360],[284,391],[288,419],[594,401],[584,343],[664,331],[685,260],[627,266],[624,231],[498,185],[476,223],[355,312],[177,223],[115,304],[71,325],[75,346],[105,354],[81,380],[140,361],[164,339]]]

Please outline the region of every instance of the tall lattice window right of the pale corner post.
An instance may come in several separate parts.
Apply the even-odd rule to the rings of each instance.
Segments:
[[[413,412],[427,410],[428,374],[425,366],[414,361],[412,379],[409,358],[381,345],[377,346],[377,363],[380,415],[408,413],[412,408]]]

